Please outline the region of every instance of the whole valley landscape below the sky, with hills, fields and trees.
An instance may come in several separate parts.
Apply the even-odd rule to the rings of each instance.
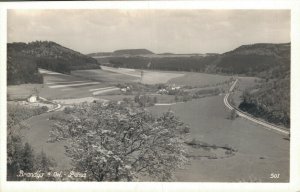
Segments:
[[[8,43],[7,179],[288,182],[290,47]]]

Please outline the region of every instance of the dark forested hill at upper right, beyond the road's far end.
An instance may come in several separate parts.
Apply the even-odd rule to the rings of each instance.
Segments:
[[[213,68],[217,72],[277,76],[290,70],[290,43],[243,45],[220,55]]]

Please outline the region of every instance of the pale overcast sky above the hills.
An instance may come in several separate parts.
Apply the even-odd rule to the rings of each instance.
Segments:
[[[8,42],[55,41],[82,53],[223,53],[290,42],[287,10],[10,10],[7,25]]]

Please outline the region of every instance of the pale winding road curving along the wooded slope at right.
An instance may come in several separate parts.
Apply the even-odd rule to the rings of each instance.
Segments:
[[[277,126],[277,125],[273,125],[273,124],[270,124],[268,122],[265,122],[265,121],[262,121],[262,120],[259,120],[257,118],[254,118],[254,117],[251,117],[249,116],[248,114],[242,112],[241,110],[233,107],[232,105],[230,105],[230,103],[228,102],[228,97],[230,96],[230,93],[233,92],[233,89],[235,88],[236,84],[238,82],[238,79],[236,79],[234,81],[234,83],[232,84],[232,86],[230,87],[228,93],[226,93],[225,97],[224,97],[224,104],[225,106],[230,109],[230,110],[233,110],[235,109],[236,110],[236,113],[240,116],[240,117],[243,117],[245,119],[248,119],[254,123],[257,123],[259,125],[262,125],[264,128],[266,129],[269,129],[269,130],[273,130],[273,131],[276,131],[277,133],[280,133],[280,134],[283,134],[283,135],[286,135],[288,136],[290,134],[289,130],[287,130],[286,128],[283,128],[283,127],[280,127],[280,126]]]

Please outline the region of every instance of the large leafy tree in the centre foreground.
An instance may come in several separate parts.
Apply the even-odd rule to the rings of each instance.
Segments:
[[[186,161],[183,136],[172,112],[155,118],[124,103],[92,103],[65,110],[50,138],[68,141],[66,153],[87,180],[166,181]]]

